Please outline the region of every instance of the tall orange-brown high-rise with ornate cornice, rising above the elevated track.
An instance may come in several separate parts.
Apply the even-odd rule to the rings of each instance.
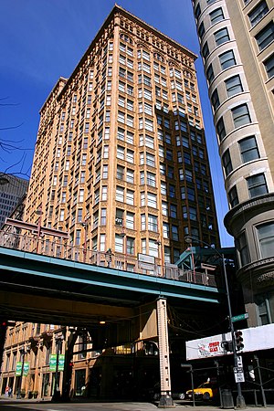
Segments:
[[[115,5],[41,109],[26,221],[158,264],[218,245],[195,58]]]

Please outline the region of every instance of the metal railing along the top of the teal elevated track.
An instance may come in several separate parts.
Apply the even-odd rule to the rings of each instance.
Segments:
[[[183,281],[216,287],[216,277],[205,272],[179,269],[174,264],[152,264],[140,261],[129,254],[90,250],[69,245],[66,240],[52,241],[45,237],[29,236],[11,231],[0,231],[0,247],[11,248],[27,253],[36,253],[50,258],[61,258],[79,263],[91,264],[107,269],[118,269],[153,277]]]

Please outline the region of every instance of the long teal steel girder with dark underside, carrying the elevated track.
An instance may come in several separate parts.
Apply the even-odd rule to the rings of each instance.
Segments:
[[[117,300],[121,304],[142,303],[145,297],[159,295],[173,300],[199,300],[219,303],[216,288],[199,284],[163,279],[144,274],[78,263],[68,259],[49,258],[10,248],[0,248],[1,287],[37,288],[95,300]],[[124,301],[124,302],[123,302]]]

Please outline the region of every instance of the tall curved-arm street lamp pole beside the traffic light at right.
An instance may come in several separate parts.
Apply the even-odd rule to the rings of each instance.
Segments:
[[[224,277],[225,277],[225,285],[226,285],[226,293],[227,293],[228,321],[229,321],[229,328],[230,328],[230,332],[231,332],[234,366],[237,368],[237,366],[238,366],[237,350],[236,350],[236,342],[235,342],[235,334],[234,334],[234,324],[233,324],[233,321],[232,321],[231,301],[230,301],[230,294],[229,294],[228,281],[227,281],[227,268],[226,268],[225,256],[224,256],[224,254],[221,254],[219,251],[217,251],[216,248],[212,247],[210,244],[206,243],[205,241],[201,240],[200,238],[187,236],[187,237],[184,237],[184,240],[189,245],[191,245],[193,242],[205,244],[205,246],[214,249],[216,254],[220,258],[222,258],[223,271],[224,271]],[[246,407],[246,402],[245,402],[245,398],[242,395],[242,389],[241,389],[241,384],[240,383],[237,383],[237,405],[236,406],[237,406],[237,408],[245,408]]]

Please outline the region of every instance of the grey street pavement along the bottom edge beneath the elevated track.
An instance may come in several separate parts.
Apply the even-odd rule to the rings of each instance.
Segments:
[[[220,408],[218,406],[192,406],[185,402],[174,402],[174,406],[178,410],[185,411],[217,411]],[[71,401],[70,403],[53,403],[43,400],[27,400],[15,398],[0,397],[0,411],[156,411],[157,404],[152,403],[140,403],[140,402],[79,402]],[[166,409],[166,408],[165,408]],[[169,409],[174,409],[169,408]],[[274,406],[268,406],[264,408],[262,406],[248,406],[245,411],[274,411]]]

